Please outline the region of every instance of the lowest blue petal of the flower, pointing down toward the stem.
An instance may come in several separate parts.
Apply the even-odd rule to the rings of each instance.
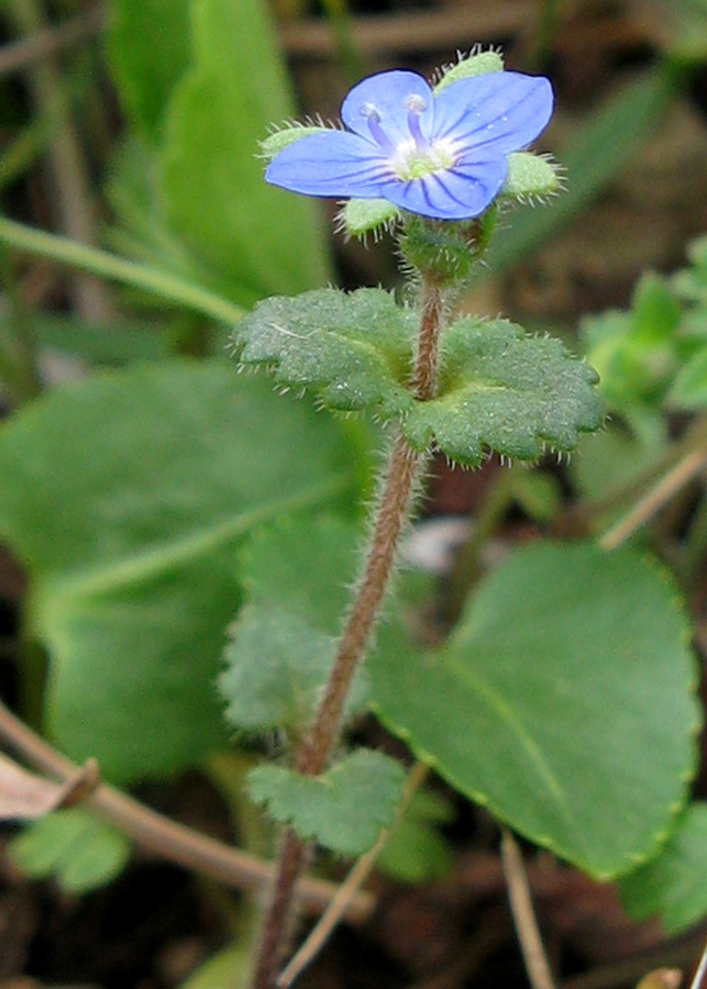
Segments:
[[[390,181],[380,193],[411,213],[435,220],[468,220],[497,196],[508,170],[506,158],[426,175],[409,182]]]

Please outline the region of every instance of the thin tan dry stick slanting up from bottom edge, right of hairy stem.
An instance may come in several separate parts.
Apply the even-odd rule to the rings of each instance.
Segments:
[[[400,800],[400,804],[398,805],[398,819],[405,812],[405,809],[412,799],[413,793],[422,785],[428,773],[429,768],[423,763],[416,763],[415,767],[410,770],[410,774],[405,784],[402,799]],[[389,829],[387,827],[384,827],[382,830],[380,834],[378,835],[378,840],[373,848],[369,848],[365,853],[365,855],[362,855],[358,862],[349,873],[344,881],[339,887],[336,896],[333,898],[327,910],[324,910],[322,915],[312,927],[307,941],[302,944],[302,946],[299,948],[291,962],[289,962],[287,967],[280,973],[280,976],[277,980],[277,989],[289,989],[295,979],[319,954],[322,945],[327,942],[331,932],[345,914],[349,903],[351,902],[351,898],[355,896],[355,893],[361,889],[363,884],[371,875],[371,871],[376,864],[376,858],[383,851],[383,847],[388,838],[388,832]]]

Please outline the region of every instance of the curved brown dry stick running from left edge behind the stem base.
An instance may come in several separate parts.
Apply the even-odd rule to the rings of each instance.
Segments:
[[[27,763],[49,776],[66,781],[80,771],[80,767],[53,748],[1,703],[0,738]],[[86,803],[143,848],[218,882],[237,889],[259,890],[273,878],[272,863],[170,821],[106,784],[99,785]],[[305,879],[300,893],[309,909],[320,911],[333,899],[336,890],[333,882]],[[350,902],[346,916],[351,921],[362,922],[371,915],[373,907],[373,897],[358,892]]]

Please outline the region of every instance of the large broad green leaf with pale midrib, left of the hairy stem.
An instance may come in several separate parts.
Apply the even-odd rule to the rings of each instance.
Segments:
[[[269,519],[347,509],[356,459],[335,425],[228,364],[99,374],[15,415],[0,536],[33,579],[62,746],[125,779],[222,744],[237,547]]]

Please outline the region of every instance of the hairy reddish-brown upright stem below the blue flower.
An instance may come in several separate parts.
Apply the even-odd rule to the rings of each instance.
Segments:
[[[434,393],[442,325],[442,296],[431,278],[422,281],[422,310],[411,390],[424,401]],[[363,577],[342,633],[324,694],[309,734],[295,756],[298,773],[319,775],[329,763],[342,729],[343,710],[356,669],[375,625],[408,518],[421,455],[398,435],[386,471]],[[275,989],[295,920],[295,893],[309,848],[291,827],[285,831],[276,880],[263,919],[252,977],[253,989]]]

